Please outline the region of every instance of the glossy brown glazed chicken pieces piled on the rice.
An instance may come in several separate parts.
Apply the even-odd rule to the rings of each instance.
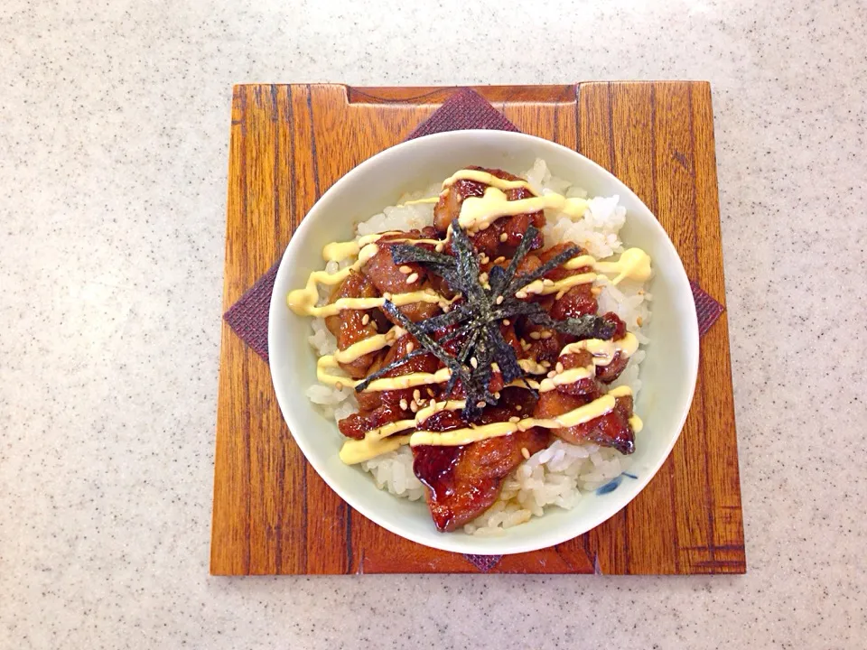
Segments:
[[[501,170],[470,169],[520,180]],[[628,392],[614,394],[613,408],[610,401],[597,404],[599,414],[588,422],[552,428],[557,416],[599,400],[605,385],[629,364],[629,352],[621,348],[600,359],[587,349],[564,350],[565,346],[582,339],[622,340],[628,336],[626,324],[615,313],[597,313],[600,289],[592,283],[592,258],[589,265],[567,268],[569,260],[585,255],[581,248],[564,242],[545,249],[538,229],[545,225],[543,211],[496,218],[465,231],[460,224],[455,227],[463,202],[485,196],[488,189],[479,181],[454,181],[434,207],[433,228],[380,237],[375,255],[335,287],[331,302],[379,297],[381,307],[342,309],[326,320],[340,350],[386,335],[385,347],[379,339],[379,349],[340,362],[352,379],[362,380],[356,386],[359,412],[339,422],[340,432],[348,438],[367,445],[394,429],[379,431],[392,422],[399,422],[404,442],[412,432],[471,432],[509,422],[505,434],[496,428],[496,435],[469,444],[450,446],[435,435],[438,444],[427,443],[430,438],[424,436],[424,444],[414,443],[413,470],[425,487],[440,531],[453,531],[484,513],[497,501],[503,480],[557,438],[573,444],[593,442],[623,454],[635,449]],[[526,187],[504,193],[509,202],[535,196]],[[499,200],[503,201],[501,194]],[[531,238],[525,241],[526,237]],[[407,246],[421,252],[407,257]],[[450,259],[453,267],[446,264]],[[466,282],[470,284],[461,284]],[[535,290],[521,291],[534,282]],[[497,291],[501,294],[494,300]],[[422,297],[418,292],[433,300],[390,303],[398,295],[405,296],[402,302],[406,294]],[[501,309],[509,316],[498,316]],[[487,371],[477,373],[479,367]],[[388,383],[409,375],[410,387]],[[596,413],[593,408],[586,412]],[[520,421],[526,422],[518,427]],[[368,440],[371,433],[376,440]]]

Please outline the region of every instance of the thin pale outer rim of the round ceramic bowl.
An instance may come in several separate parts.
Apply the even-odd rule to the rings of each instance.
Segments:
[[[603,177],[607,177],[608,181],[613,181],[615,185],[619,186],[619,192],[621,196],[629,196],[640,206],[643,206],[644,209],[647,209],[648,214],[653,217],[653,223],[650,225],[650,228],[656,228],[658,230],[658,234],[662,235],[662,239],[664,241],[664,246],[670,246],[672,251],[674,252],[674,259],[676,260],[675,268],[671,269],[676,275],[676,283],[682,285],[682,288],[686,292],[690,292],[689,278],[686,274],[683,261],[680,258],[680,254],[677,253],[677,249],[674,243],[671,241],[671,238],[668,237],[668,234],[665,228],[659,223],[656,215],[653,213],[651,209],[648,208],[647,204],[644,201],[640,200],[638,195],[624,183],[620,181],[617,176],[613,173],[606,170],[604,167],[601,167],[598,163],[593,162],[590,158],[587,158],[582,153],[578,153],[573,149],[563,146],[562,144],[557,144],[551,140],[546,140],[545,138],[537,137],[536,135],[527,135],[520,132],[512,132],[512,131],[494,131],[488,129],[461,129],[457,131],[447,131],[438,134],[432,135],[424,135],[421,138],[417,138],[414,140],[408,140],[402,142],[400,144],[395,144],[394,146],[388,147],[383,151],[374,154],[367,160],[359,163],[357,166],[353,167],[349,172],[340,177],[337,181],[334,182],[331,187],[322,193],[322,196],[319,200],[317,200],[312,208],[307,212],[307,214],[302,218],[298,227],[295,228],[293,236],[291,237],[288,246],[286,246],[283,255],[280,259],[280,265],[277,268],[277,274],[275,275],[275,287],[280,284],[279,279],[285,274],[290,273],[291,260],[298,255],[299,251],[302,249],[302,241],[304,236],[307,233],[307,230],[310,230],[313,227],[313,223],[320,218],[320,215],[327,214],[329,209],[329,203],[331,199],[340,194],[343,187],[349,185],[352,182],[354,176],[360,175],[362,172],[368,170],[368,168],[375,167],[384,161],[387,161],[391,157],[395,157],[403,153],[407,149],[414,149],[418,147],[420,143],[431,143],[433,141],[443,141],[444,143],[448,143],[449,140],[459,141],[464,137],[468,137],[471,135],[479,135],[484,134],[491,137],[502,137],[505,140],[512,139],[515,143],[524,142],[530,145],[534,143],[536,146],[544,146],[544,147],[555,147],[557,149],[562,150],[564,153],[567,153],[573,157],[576,157],[576,160],[582,160],[583,163],[589,164],[592,168],[595,168],[595,172],[601,174]],[[496,135],[494,135],[496,134]],[[421,186],[423,183],[420,181],[419,185]],[[691,305],[692,311],[695,313],[695,302],[689,301]],[[279,310],[287,310],[285,303],[284,295],[277,295],[277,292],[272,292],[271,301],[269,303],[268,310],[268,348],[269,351],[273,350],[272,342],[275,340],[275,330],[276,330],[276,318]],[[630,490],[632,492],[631,496],[624,501],[620,506],[611,510],[611,512],[603,511],[599,515],[588,516],[585,518],[584,525],[564,525],[561,526],[557,531],[549,534],[545,534],[543,536],[543,541],[536,543],[536,537],[528,539],[523,543],[521,541],[512,541],[512,543],[508,543],[508,535],[503,535],[500,537],[489,537],[486,538],[486,542],[489,542],[491,545],[490,553],[496,555],[508,555],[519,552],[532,552],[540,549],[544,549],[550,546],[553,546],[558,543],[564,543],[568,540],[573,539],[574,537],[578,537],[582,534],[591,531],[598,525],[601,525],[603,522],[610,519],[612,516],[616,515],[623,508],[629,505],[629,503],[638,497],[639,493],[644,490],[645,487],[648,486],[648,483],[657,475],[657,472],[662,467],[662,465],[666,462],[668,457],[671,454],[671,450],[674,448],[676,442],[680,438],[681,433],[683,432],[684,425],[686,422],[686,418],[689,414],[690,407],[692,405],[693,399],[695,397],[695,386],[698,378],[698,368],[699,368],[699,333],[698,333],[698,322],[697,318],[694,316],[693,318],[688,318],[688,322],[685,323],[685,340],[683,341],[683,345],[689,349],[687,349],[688,357],[691,359],[692,363],[690,363],[687,367],[688,376],[688,398],[685,402],[686,406],[683,409],[683,413],[680,414],[678,418],[678,422],[676,425],[676,432],[671,436],[670,441],[667,443],[667,447],[663,453],[659,455],[657,462],[653,464],[647,465],[647,470],[642,471],[641,476],[637,479],[637,483],[633,484],[633,488]],[[274,359],[274,355],[269,355],[270,359]],[[269,371],[271,375],[272,385],[275,391],[275,397],[277,400],[277,404],[280,407],[280,413],[283,416],[284,422],[289,429],[289,432],[292,434],[295,443],[298,445],[299,449],[302,451],[304,455],[304,459],[312,465],[312,468],[319,474],[320,478],[334,490],[335,493],[344,501],[346,504],[351,506],[354,510],[356,510],[360,515],[366,516],[372,522],[377,525],[382,526],[387,531],[399,535],[411,542],[420,543],[424,546],[428,546],[430,548],[435,548],[442,551],[448,552],[460,552],[460,553],[475,553],[478,554],[480,549],[477,547],[472,547],[467,544],[461,543],[464,535],[454,535],[454,534],[437,534],[434,539],[437,542],[441,543],[432,543],[431,540],[423,538],[413,532],[407,532],[406,530],[400,530],[396,526],[389,525],[386,521],[384,521],[381,517],[378,516],[377,512],[373,509],[368,508],[367,506],[360,505],[358,500],[355,499],[350,491],[343,489],[340,487],[340,481],[332,481],[328,474],[329,471],[326,469],[321,463],[319,463],[315,459],[315,454],[312,453],[312,449],[308,446],[307,438],[304,435],[296,436],[294,431],[303,430],[304,422],[302,422],[299,418],[294,417],[293,410],[288,408],[288,404],[285,404],[284,399],[281,397],[282,391],[278,389],[277,380],[275,379],[274,372],[274,362],[269,360]],[[335,454],[338,450],[335,450]],[[399,497],[395,497],[399,498]],[[560,533],[560,534],[556,534]]]

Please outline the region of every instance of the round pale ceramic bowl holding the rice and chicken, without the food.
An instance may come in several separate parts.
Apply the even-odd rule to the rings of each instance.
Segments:
[[[394,205],[405,191],[420,190],[455,170],[476,164],[510,172],[543,158],[555,176],[578,183],[590,195],[620,195],[627,223],[620,233],[629,246],[653,260],[653,318],[641,367],[643,387],[635,404],[644,421],[629,473],[608,494],[592,493],[572,510],[551,507],[545,516],[509,528],[499,537],[438,533],[424,500],[411,502],[377,489],[359,466],[340,462],[343,440],[333,420],[318,413],[304,391],[316,380],[316,356],[307,343],[310,319],[286,306],[286,294],[322,269],[322,246],[353,237],[353,225]],[[268,323],[271,376],[289,430],[313,469],[362,515],[417,543],[444,551],[505,554],[534,551],[583,534],[617,513],[648,484],[666,460],[686,419],[698,370],[695,303],[684,267],[665,230],[639,198],[596,163],[558,144],[503,131],[455,131],[429,135],[361,163],[337,181],[303,219],[286,248],[274,286]]]

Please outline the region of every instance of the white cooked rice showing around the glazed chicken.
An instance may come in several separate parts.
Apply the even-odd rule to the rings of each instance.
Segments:
[[[522,174],[536,193],[556,192],[568,197],[586,198],[586,192],[569,181],[555,178],[548,171],[545,162],[537,160],[533,167]],[[440,185],[406,194],[398,200],[434,197]],[[571,218],[562,212],[547,210],[547,223],[543,228],[545,245],[554,246],[558,242],[569,241],[583,246],[590,255],[601,260],[623,251],[620,241],[620,228],[626,222],[626,209],[620,206],[620,199],[613,197],[592,197],[589,209],[582,218]],[[419,203],[409,206],[397,205],[384,209],[367,221],[359,223],[358,237],[383,232],[385,230],[409,230],[433,225],[433,204]],[[326,270],[335,273],[350,264],[350,260],[340,265],[330,262]],[[652,296],[644,289],[643,283],[624,281],[617,286],[611,285],[607,278],[600,275],[597,280],[602,292],[599,296],[599,311],[614,311],[626,322],[627,330],[635,334],[642,345],[648,338],[642,330],[650,319],[648,302]],[[327,302],[327,290],[321,290],[320,303]],[[322,319],[312,320],[312,335],[308,337],[312,348],[319,356],[333,354],[337,343]],[[641,389],[639,367],[646,353],[639,348],[629,359],[629,366],[612,386],[629,385],[632,394],[638,396]],[[350,413],[358,411],[358,403],[351,388],[337,390],[322,384],[307,389],[307,396],[322,408],[327,417],[341,420]],[[557,506],[572,508],[583,497],[612,478],[628,469],[629,457],[617,450],[600,447],[592,443],[573,445],[557,440],[545,450],[531,456],[521,463],[503,482],[499,500],[483,515],[464,526],[464,531],[475,535],[503,534],[503,530],[513,525],[523,524],[533,516],[545,514],[545,508]],[[386,489],[397,497],[416,500],[424,497],[424,487],[413,473],[413,454],[408,447],[384,454],[373,460],[361,463],[361,468],[370,472],[377,487]]]

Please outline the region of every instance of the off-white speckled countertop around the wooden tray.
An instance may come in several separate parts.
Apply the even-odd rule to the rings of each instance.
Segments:
[[[867,5],[649,5],[7,0],[0,648],[864,647]],[[713,83],[750,572],[210,578],[231,85],[581,79]]]

